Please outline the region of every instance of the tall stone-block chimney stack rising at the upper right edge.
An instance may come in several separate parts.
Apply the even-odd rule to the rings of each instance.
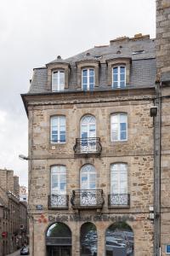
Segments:
[[[156,81],[170,84],[170,0],[156,0]]]

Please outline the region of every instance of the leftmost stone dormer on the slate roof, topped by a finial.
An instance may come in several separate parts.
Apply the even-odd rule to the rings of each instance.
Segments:
[[[57,57],[49,62],[48,68],[48,90],[52,92],[62,91],[69,88],[70,64]]]

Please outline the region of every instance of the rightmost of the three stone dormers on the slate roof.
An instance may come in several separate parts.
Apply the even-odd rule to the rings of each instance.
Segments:
[[[122,89],[129,84],[131,58],[116,58],[106,61],[108,65],[108,85],[113,89]]]

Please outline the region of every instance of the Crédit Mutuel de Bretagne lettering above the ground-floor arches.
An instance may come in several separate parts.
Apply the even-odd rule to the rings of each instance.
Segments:
[[[111,221],[111,222],[120,222],[120,221],[133,221],[134,218],[133,216],[129,215],[123,215],[123,216],[117,216],[117,215],[111,215],[111,214],[101,214],[101,215],[87,215],[87,216],[82,216],[78,214],[71,214],[71,215],[49,215],[48,216],[48,221],[50,222],[68,222],[68,221],[73,221],[73,222],[79,222],[79,221],[94,221],[94,222],[105,222],[105,221]]]

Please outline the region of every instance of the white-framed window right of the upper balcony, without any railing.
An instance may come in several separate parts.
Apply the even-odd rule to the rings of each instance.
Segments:
[[[127,113],[111,114],[111,142],[127,140]]]

